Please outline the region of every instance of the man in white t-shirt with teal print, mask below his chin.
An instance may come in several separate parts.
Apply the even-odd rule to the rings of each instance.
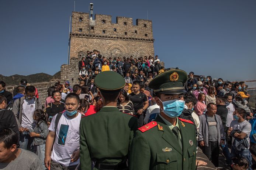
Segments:
[[[51,170],[75,170],[79,164],[79,125],[81,120],[81,114],[77,112],[79,106],[79,96],[69,93],[65,99],[66,111],[59,118],[57,126],[55,120],[58,114],[53,117],[45,144],[46,168],[51,166]]]

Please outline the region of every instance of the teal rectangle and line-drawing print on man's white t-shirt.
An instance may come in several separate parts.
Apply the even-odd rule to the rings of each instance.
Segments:
[[[76,131],[77,130],[74,129],[73,126],[71,126],[69,130],[69,125],[61,124],[60,130],[59,130],[58,144],[60,145],[73,144],[71,134],[72,132],[76,132]]]

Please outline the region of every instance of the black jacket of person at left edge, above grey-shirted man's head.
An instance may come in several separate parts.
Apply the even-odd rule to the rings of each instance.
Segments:
[[[18,141],[20,141],[18,124],[12,111],[0,109],[0,129],[1,128],[11,128],[13,131],[17,133]]]

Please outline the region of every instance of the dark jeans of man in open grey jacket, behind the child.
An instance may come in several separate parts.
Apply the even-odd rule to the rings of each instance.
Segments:
[[[30,133],[27,131],[24,131],[23,133],[20,133],[20,148],[33,151],[32,149],[32,142],[34,140],[34,137],[30,137]]]

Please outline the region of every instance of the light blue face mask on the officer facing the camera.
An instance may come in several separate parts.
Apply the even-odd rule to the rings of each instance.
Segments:
[[[168,117],[174,118],[181,115],[182,111],[184,110],[185,101],[169,100],[169,101],[162,102],[162,104],[163,104],[163,110],[162,110],[163,113],[165,113],[165,115]]]

